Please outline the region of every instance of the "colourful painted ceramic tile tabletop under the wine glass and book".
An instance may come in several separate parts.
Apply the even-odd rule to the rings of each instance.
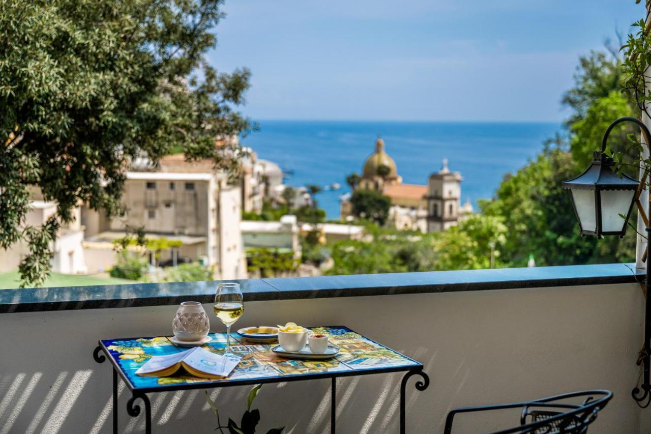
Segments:
[[[328,360],[296,360],[278,356],[271,351],[273,343],[253,343],[236,333],[231,334],[230,349],[242,356],[240,364],[224,379],[202,379],[187,374],[183,369],[171,377],[141,377],[135,371],[143,366],[152,356],[187,351],[188,348],[177,347],[167,337],[129,338],[101,340],[100,344],[109,353],[112,362],[122,371],[122,377],[128,381],[132,390],[156,390],[165,386],[181,386],[194,383],[261,383],[284,381],[289,376],[322,374],[324,377],[355,375],[355,373],[373,373],[373,371],[407,371],[421,366],[380,343],[372,341],[344,326],[312,327],[315,333],[327,333],[330,342],[339,347],[340,352]],[[225,333],[208,335],[210,341],[203,347],[216,354],[222,354],[227,347]],[[217,384],[215,384],[216,386]],[[233,384],[234,385],[234,384]],[[209,386],[206,384],[206,386]]]

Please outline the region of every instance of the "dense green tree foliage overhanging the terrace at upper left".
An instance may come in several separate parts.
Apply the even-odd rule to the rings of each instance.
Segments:
[[[206,64],[223,0],[0,0],[0,247],[22,241],[23,285],[42,283],[49,246],[79,203],[120,214],[133,158],[182,149],[234,169],[216,137],[253,126],[237,106],[246,68]],[[28,226],[31,192],[57,203]]]

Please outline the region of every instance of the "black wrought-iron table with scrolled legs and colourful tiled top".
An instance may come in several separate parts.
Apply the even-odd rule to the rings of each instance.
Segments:
[[[331,433],[335,433],[337,377],[406,372],[400,384],[400,433],[404,434],[405,392],[409,377],[412,375],[422,377],[422,381],[417,381],[415,384],[417,390],[425,390],[430,383],[429,377],[422,370],[422,364],[344,326],[312,327],[312,330],[329,334],[331,342],[339,346],[340,353],[329,360],[287,359],[271,351],[275,343],[251,343],[240,336],[231,335],[230,349],[233,353],[242,356],[242,361],[229,377],[217,380],[192,377],[187,373],[159,378],[135,375],[136,369],[143,366],[152,356],[187,351],[187,348],[177,347],[165,336],[100,340],[99,346],[93,353],[95,361],[102,363],[108,357],[113,365],[113,433],[117,433],[118,429],[118,376],[126,383],[132,394],[126,405],[127,413],[133,417],[140,414],[140,406],[135,404],[137,399],[142,399],[145,404],[146,434],[152,432],[152,409],[147,394],[329,378],[331,379],[330,430]],[[223,353],[227,345],[226,334],[214,333],[209,336],[211,340],[203,347],[217,354]]]

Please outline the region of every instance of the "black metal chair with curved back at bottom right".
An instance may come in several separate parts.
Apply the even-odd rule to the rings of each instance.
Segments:
[[[595,399],[595,397],[597,399]],[[566,399],[585,398],[581,404],[566,403]],[[613,398],[610,390],[585,390],[548,398],[510,404],[462,407],[450,411],[445,419],[445,434],[452,433],[452,420],[459,413],[522,408],[519,426],[492,434],[583,434],[597,418],[597,413]]]

